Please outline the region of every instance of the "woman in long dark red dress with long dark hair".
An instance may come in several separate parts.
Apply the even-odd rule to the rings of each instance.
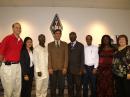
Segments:
[[[113,97],[114,82],[112,75],[112,59],[114,47],[109,35],[104,35],[99,47],[99,66],[97,74],[97,97]]]

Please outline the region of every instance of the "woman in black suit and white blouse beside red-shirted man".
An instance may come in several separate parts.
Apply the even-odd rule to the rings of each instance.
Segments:
[[[20,56],[20,64],[22,68],[21,97],[31,97],[32,81],[34,76],[32,51],[33,51],[32,39],[30,37],[26,37],[24,39]]]

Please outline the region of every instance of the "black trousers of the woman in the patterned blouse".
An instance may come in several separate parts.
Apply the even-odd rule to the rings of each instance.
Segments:
[[[115,77],[116,97],[130,97],[130,80]]]

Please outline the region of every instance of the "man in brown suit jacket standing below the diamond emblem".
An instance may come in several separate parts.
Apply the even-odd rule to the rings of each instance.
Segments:
[[[55,41],[48,44],[48,71],[51,97],[64,97],[65,74],[68,67],[68,45],[60,40],[61,30],[54,32]],[[58,96],[56,88],[58,86]]]

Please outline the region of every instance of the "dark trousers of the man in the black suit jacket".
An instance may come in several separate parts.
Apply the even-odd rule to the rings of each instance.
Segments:
[[[68,73],[68,97],[81,97],[81,76]]]

